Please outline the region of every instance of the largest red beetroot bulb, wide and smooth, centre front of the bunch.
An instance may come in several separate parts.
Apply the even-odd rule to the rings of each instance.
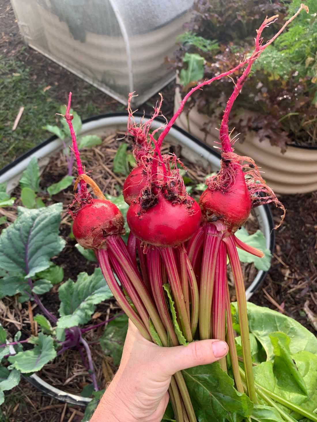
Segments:
[[[197,202],[188,197],[187,204],[173,204],[161,193],[155,206],[143,211],[140,203],[130,206],[127,222],[131,232],[140,240],[154,246],[176,246],[186,242],[201,223]]]

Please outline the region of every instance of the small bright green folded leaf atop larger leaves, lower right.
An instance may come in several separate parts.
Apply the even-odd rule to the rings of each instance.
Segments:
[[[286,369],[286,371],[284,372],[289,372],[292,380],[294,380],[294,382],[296,382],[301,388],[302,392],[307,395],[307,387],[305,381],[303,380],[303,376],[298,370],[296,362],[290,354],[290,338],[285,333],[279,332],[271,333],[269,337],[271,338],[271,343],[273,344],[273,352],[275,354],[274,367],[277,366],[279,369],[281,369],[282,366],[286,367],[284,368]],[[317,356],[312,356],[316,360],[317,369]]]

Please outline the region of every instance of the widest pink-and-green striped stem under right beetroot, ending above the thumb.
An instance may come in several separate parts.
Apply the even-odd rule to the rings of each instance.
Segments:
[[[210,223],[205,225],[205,243],[202,255],[199,291],[199,335],[201,340],[211,338],[211,304],[213,300],[217,255],[221,242],[220,235],[215,225]]]

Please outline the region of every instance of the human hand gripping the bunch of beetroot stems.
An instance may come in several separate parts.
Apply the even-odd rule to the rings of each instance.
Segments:
[[[161,422],[169,401],[171,376],[182,369],[215,362],[227,352],[227,343],[217,340],[160,347],[145,340],[129,320],[118,372],[90,422]]]

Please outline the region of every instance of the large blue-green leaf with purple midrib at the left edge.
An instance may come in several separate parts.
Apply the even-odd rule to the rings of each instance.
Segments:
[[[18,218],[0,235],[0,267],[25,277],[48,268],[65,246],[58,235],[61,211],[61,203],[32,210],[18,207]]]

